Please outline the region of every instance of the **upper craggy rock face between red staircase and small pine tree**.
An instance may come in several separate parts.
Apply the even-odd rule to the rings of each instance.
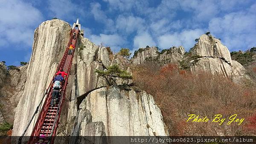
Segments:
[[[102,86],[95,74],[95,69],[103,69],[110,65],[108,51],[100,48],[87,38],[81,38],[77,57],[78,95]]]

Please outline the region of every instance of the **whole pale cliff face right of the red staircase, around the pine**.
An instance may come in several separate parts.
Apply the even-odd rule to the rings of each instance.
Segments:
[[[120,64],[120,60],[111,62],[105,47],[81,37],[76,53],[77,82],[67,117],[68,121],[75,121],[71,135],[168,135],[151,95],[117,86],[107,89],[105,81],[97,78],[96,69],[104,70],[113,63]],[[77,111],[71,110],[77,107]]]

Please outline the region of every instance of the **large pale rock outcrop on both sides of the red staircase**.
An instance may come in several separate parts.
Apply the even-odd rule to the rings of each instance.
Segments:
[[[61,20],[46,21],[35,30],[25,89],[17,105],[12,135],[22,134],[38,106],[64,54],[69,31],[70,25]],[[96,69],[104,70],[111,64],[105,47],[79,37],[61,111],[63,127],[58,128],[58,135],[168,135],[160,109],[151,95],[115,86],[107,89],[106,82],[97,77]],[[92,107],[95,104],[109,110]],[[122,118],[125,118],[122,124],[115,123]],[[31,124],[26,135],[31,134],[32,127]],[[117,132],[124,128],[129,129]],[[83,139],[74,141],[81,143]],[[105,143],[104,139],[101,141]]]

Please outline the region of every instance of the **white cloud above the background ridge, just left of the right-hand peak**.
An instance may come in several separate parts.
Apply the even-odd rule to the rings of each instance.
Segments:
[[[195,44],[195,38],[204,34],[202,29],[190,29],[184,30],[180,33],[175,32],[173,34],[166,34],[158,37],[158,46],[162,49],[167,49],[172,46],[184,46],[186,50],[189,50]]]

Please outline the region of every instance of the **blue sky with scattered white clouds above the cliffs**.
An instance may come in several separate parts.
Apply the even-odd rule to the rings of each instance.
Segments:
[[[84,37],[114,52],[182,45],[209,31],[230,51],[256,46],[255,0],[0,0],[0,61],[29,61],[34,30],[58,17],[79,18]]]

